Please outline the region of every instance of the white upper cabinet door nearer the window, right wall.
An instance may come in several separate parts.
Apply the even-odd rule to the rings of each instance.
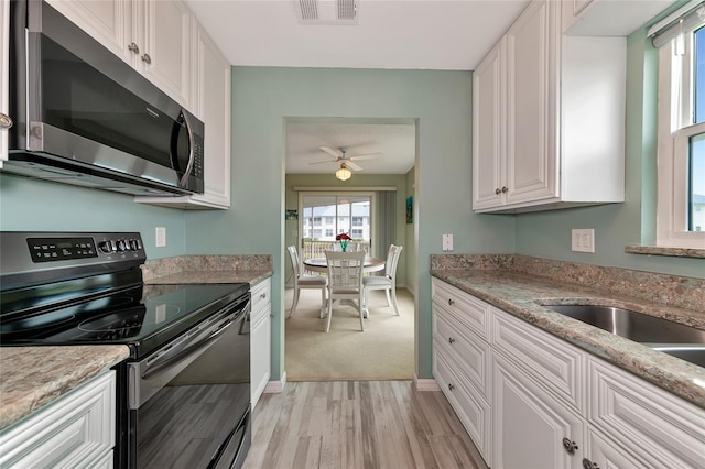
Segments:
[[[507,204],[558,195],[558,2],[531,2],[506,35]]]

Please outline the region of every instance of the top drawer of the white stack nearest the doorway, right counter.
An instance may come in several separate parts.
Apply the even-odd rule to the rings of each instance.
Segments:
[[[449,315],[475,331],[481,339],[487,340],[489,332],[489,304],[474,298],[468,293],[437,279],[433,279],[432,286],[432,299],[434,303],[443,305]]]

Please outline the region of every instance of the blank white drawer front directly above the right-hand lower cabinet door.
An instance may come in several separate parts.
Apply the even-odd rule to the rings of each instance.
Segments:
[[[585,415],[585,370],[579,350],[509,313],[492,308],[496,350],[523,369],[571,408]]]

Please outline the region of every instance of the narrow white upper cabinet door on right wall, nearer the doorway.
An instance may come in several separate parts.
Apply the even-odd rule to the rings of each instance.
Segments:
[[[473,209],[497,207],[505,194],[506,41],[473,74]],[[499,192],[498,192],[499,189]]]

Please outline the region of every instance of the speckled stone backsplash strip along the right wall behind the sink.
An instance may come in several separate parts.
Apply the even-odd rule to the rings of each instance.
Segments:
[[[507,270],[705,312],[705,280],[517,254],[431,254],[431,270]]]

